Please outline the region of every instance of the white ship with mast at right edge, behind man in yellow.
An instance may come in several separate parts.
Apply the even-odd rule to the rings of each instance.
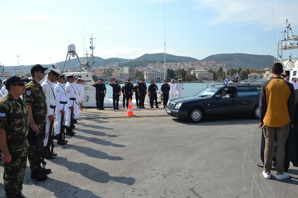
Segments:
[[[298,78],[298,36],[293,34],[291,24],[286,20],[284,39],[278,42],[278,62],[284,67],[283,77],[289,76],[290,81]],[[291,34],[290,34],[291,32]]]

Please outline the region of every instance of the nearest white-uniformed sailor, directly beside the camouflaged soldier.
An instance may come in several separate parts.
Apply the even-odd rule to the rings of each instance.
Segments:
[[[56,69],[51,68],[48,74],[48,78],[41,84],[42,90],[46,96],[46,104],[47,104],[47,116],[46,116],[46,136],[44,140],[44,147],[48,150],[48,156],[47,159],[53,159],[55,157],[52,156],[52,153],[50,152],[50,145],[51,145],[51,139],[52,137],[52,130],[50,129],[50,126],[54,127],[54,120],[55,120],[55,95],[54,95],[54,87],[53,82],[57,80],[59,75],[62,73]],[[50,132],[51,130],[51,132]]]

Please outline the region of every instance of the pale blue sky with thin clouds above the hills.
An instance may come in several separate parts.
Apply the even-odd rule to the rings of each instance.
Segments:
[[[94,56],[105,59],[163,53],[164,46],[197,59],[277,57],[286,19],[298,35],[297,8],[298,0],[0,0],[0,64],[65,61],[70,44],[82,57],[91,53],[91,35]]]

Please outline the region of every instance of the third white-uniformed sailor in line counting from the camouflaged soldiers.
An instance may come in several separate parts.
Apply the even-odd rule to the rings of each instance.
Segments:
[[[74,74],[69,74],[67,77],[67,83],[65,84],[66,90],[66,97],[67,97],[67,111],[66,111],[66,122],[67,122],[67,129],[66,135],[74,136],[74,125],[71,126],[71,119],[72,119],[72,111],[74,113],[74,104],[76,100],[76,87],[74,86],[75,77]]]

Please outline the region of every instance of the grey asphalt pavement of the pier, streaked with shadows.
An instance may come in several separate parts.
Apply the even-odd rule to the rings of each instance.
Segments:
[[[298,168],[291,178],[263,177],[258,120],[221,119],[193,124],[164,108],[96,110],[77,119],[75,136],[56,144],[48,179],[30,178],[27,198],[295,198]],[[27,163],[27,165],[29,165]],[[0,197],[3,168],[0,171]]]

